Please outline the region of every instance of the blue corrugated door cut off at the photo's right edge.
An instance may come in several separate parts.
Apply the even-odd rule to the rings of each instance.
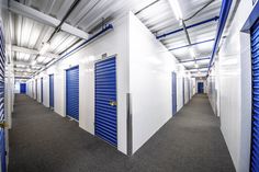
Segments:
[[[259,172],[259,20],[251,27],[252,114],[251,172]]]

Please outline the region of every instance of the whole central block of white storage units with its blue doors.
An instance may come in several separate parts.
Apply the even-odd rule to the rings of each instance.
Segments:
[[[130,32],[130,46],[122,39],[127,30],[138,31]],[[132,13],[26,84],[27,95],[125,154],[139,149],[195,93],[195,80]]]

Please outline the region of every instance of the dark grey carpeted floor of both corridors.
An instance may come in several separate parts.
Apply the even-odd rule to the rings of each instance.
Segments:
[[[16,95],[12,122],[9,172],[235,171],[205,95],[195,95],[132,157],[25,95]]]

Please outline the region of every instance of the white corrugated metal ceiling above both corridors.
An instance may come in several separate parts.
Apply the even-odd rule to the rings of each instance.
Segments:
[[[13,4],[26,5],[41,13],[44,13],[53,19],[61,20],[72,0],[10,0]],[[183,19],[188,19],[195,13],[200,8],[211,0],[179,0]],[[155,3],[154,3],[155,2]],[[151,4],[148,8],[148,4]],[[12,4],[12,3],[11,3]],[[144,9],[140,11],[142,9]],[[221,0],[215,0],[206,9],[195,15],[193,19],[185,22],[185,25],[191,25],[207,19],[219,15]],[[173,11],[171,10],[168,0],[81,0],[79,5],[71,12],[66,20],[66,24],[74,28],[91,34],[92,28],[105,19],[108,22],[121,18],[126,12],[138,12],[137,18],[153,32],[155,35],[161,35],[170,31],[176,31],[182,26],[176,20]],[[140,12],[139,12],[140,11]],[[8,16],[8,15],[7,15]],[[8,18],[5,18],[8,19]],[[71,45],[79,44],[80,37],[64,31],[58,32],[50,41],[50,48],[48,55],[37,56],[33,50],[38,51],[42,43],[46,42],[55,30],[52,24],[43,24],[35,18],[27,18],[21,12],[12,11],[12,45],[22,48],[32,49],[32,51],[13,51],[12,57],[15,61],[15,67],[19,68],[18,76],[26,72],[30,77],[36,70],[47,65],[55,58],[68,49]],[[215,37],[217,22],[210,22],[204,25],[189,28],[191,43],[198,43]],[[188,45],[184,32],[164,37],[161,43],[168,48]],[[214,42],[199,44],[193,46],[196,57],[203,58],[211,55]],[[179,48],[171,50],[171,53],[179,59],[192,59],[188,48]],[[31,65],[33,60],[36,65]],[[198,61],[200,67],[206,67],[209,60]],[[187,68],[194,68],[194,62],[183,64]],[[30,69],[29,69],[30,68]]]

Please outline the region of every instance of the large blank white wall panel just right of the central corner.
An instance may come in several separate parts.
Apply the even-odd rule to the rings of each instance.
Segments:
[[[130,13],[133,152],[172,117],[172,71],[177,71],[177,59]]]

